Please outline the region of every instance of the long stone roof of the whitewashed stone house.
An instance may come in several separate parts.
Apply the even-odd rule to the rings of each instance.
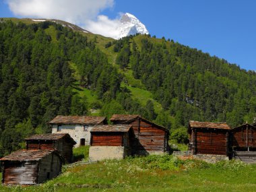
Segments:
[[[51,124],[82,124],[82,125],[98,125],[106,121],[106,117],[90,117],[90,116],[62,116],[58,115],[50,121]]]

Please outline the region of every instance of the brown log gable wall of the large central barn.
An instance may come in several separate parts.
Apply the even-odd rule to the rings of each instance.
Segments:
[[[150,125],[149,123],[139,122],[139,145],[137,150],[146,151],[165,151],[165,131]]]

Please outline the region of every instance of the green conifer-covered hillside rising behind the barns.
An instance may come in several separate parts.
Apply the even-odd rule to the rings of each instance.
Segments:
[[[0,156],[51,131],[56,115],[139,114],[173,131],[189,119],[251,123],[256,113],[255,72],[145,35],[1,20],[0,73]]]

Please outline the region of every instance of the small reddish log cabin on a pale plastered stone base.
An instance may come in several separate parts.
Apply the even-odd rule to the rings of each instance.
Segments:
[[[90,161],[123,159],[131,155],[135,137],[131,125],[97,125],[91,130]]]

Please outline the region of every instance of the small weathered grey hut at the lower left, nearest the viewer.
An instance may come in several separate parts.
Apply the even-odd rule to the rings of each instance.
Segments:
[[[55,150],[20,150],[0,159],[2,183],[34,185],[53,179],[65,161]]]

